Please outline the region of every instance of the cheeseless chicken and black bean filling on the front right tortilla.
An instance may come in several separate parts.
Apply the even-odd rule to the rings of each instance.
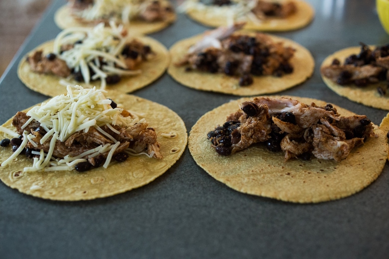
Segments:
[[[222,126],[207,138],[220,155],[230,155],[254,143],[291,158],[345,159],[355,147],[374,136],[373,124],[365,115],[342,117],[331,105],[265,97],[243,102]]]

